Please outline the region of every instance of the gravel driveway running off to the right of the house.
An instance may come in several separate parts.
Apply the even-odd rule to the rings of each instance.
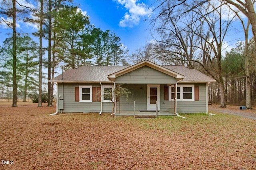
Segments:
[[[211,111],[216,111],[220,113],[227,113],[227,114],[232,114],[232,115],[238,115],[242,117],[247,117],[250,119],[256,119],[256,113],[248,113],[246,110],[229,110],[229,109],[224,109],[224,108],[215,108],[215,107],[208,107],[208,112],[211,113]]]

